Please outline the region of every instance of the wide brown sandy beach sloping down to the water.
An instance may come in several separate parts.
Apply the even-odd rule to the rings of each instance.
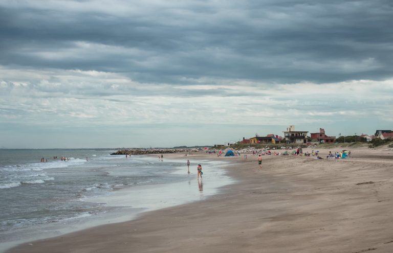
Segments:
[[[231,161],[237,182],[207,200],[7,252],[393,251],[392,150],[360,148],[343,160],[263,156],[261,169],[252,155],[188,158]]]

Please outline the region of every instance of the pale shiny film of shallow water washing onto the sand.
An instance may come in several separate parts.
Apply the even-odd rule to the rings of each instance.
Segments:
[[[155,158],[156,155],[135,155],[136,159],[145,159],[147,163],[156,163]],[[145,158],[143,158],[145,157]],[[164,166],[171,167],[170,174],[173,174],[175,177],[182,175],[183,177],[187,178],[186,173],[181,173],[183,170],[183,166],[180,165],[182,157],[177,157],[177,159],[168,159],[166,157],[164,161]],[[223,171],[222,169],[226,166],[226,163],[216,163],[213,159],[209,159],[204,161],[206,166],[214,167],[215,170]],[[157,162],[157,164],[161,162]],[[184,166],[187,168],[186,166]],[[187,170],[186,170],[187,171]],[[191,171],[191,168],[190,168]],[[112,173],[112,172],[108,172]],[[195,175],[195,180],[193,178]],[[232,179],[229,177],[225,177],[225,181],[216,182],[216,185],[232,183]],[[217,178],[213,177],[211,180],[217,180]],[[188,183],[187,183],[188,181]],[[204,195],[201,194],[194,194],[193,196],[188,195],[182,196],[189,192],[187,188],[194,186],[198,189],[196,174],[188,175],[188,179],[183,179],[181,181],[173,181],[167,183],[156,183],[152,185],[141,185],[138,187],[131,187],[131,188],[115,188],[113,189],[110,196],[97,196],[97,197],[90,197],[85,198],[84,200],[80,200],[83,202],[94,202],[94,203],[106,203],[105,206],[107,208],[116,209],[115,213],[113,212],[104,212],[97,215],[89,215],[88,217],[82,218],[79,222],[75,223],[78,217],[72,217],[68,220],[72,221],[71,223],[66,220],[60,220],[56,223],[48,223],[38,225],[35,228],[35,231],[42,231],[43,234],[39,233],[39,236],[33,235],[29,236],[27,239],[21,236],[21,239],[12,240],[2,242],[2,247],[0,252],[6,252],[11,248],[28,243],[30,241],[37,241],[37,240],[47,240],[58,236],[67,235],[70,233],[77,233],[79,231],[83,231],[85,229],[94,228],[97,226],[105,225],[105,224],[115,224],[120,222],[126,222],[130,220],[134,220],[139,217],[141,214],[145,212],[152,212],[155,210],[160,210],[164,208],[170,208],[171,206],[176,206],[179,204],[200,201],[201,199],[205,199],[210,197],[213,194],[216,194],[218,191],[217,186],[208,186],[204,189]],[[160,189],[160,190],[158,190]],[[170,192],[170,189],[181,189],[180,192]],[[124,196],[133,195],[132,202],[130,199]],[[136,196],[136,197],[135,197]],[[170,196],[170,197],[167,197]],[[144,198],[144,199],[143,199]],[[146,203],[146,201],[148,201]],[[83,217],[84,215],[81,215]],[[64,223],[65,222],[65,223]],[[33,227],[27,227],[23,231],[23,234],[28,235],[28,233],[33,233]],[[29,232],[30,231],[30,232]],[[51,231],[51,234],[47,232]]]

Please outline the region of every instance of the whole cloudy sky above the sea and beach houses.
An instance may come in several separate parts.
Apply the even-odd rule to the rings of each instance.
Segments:
[[[393,3],[0,2],[0,148],[393,129]]]

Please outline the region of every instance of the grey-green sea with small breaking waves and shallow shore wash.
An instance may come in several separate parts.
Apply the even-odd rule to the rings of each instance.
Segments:
[[[205,199],[233,182],[222,170],[224,161],[194,160],[192,156],[168,160],[165,154],[161,161],[158,156],[126,158],[111,152],[0,149],[0,251],[21,242]],[[42,157],[48,162],[40,162]],[[197,180],[198,163],[203,165],[203,183]]]

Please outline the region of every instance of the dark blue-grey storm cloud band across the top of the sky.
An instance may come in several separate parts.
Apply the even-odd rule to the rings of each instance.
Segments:
[[[124,11],[117,2],[8,3],[0,4],[2,65],[122,73],[141,83],[391,77],[389,1],[147,1]]]

